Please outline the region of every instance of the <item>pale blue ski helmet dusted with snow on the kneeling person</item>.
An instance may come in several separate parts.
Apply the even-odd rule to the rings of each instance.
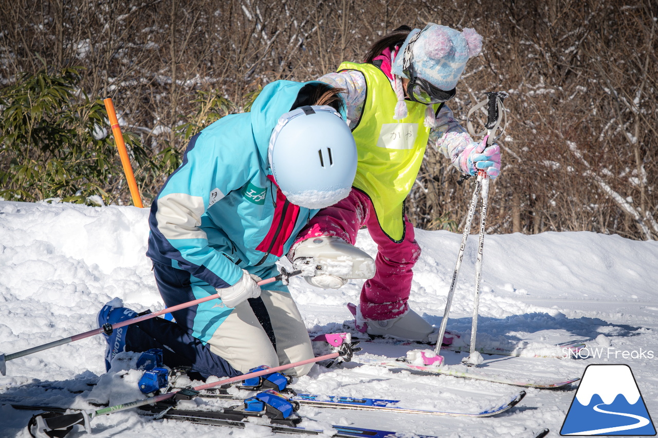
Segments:
[[[272,174],[288,200],[324,208],[347,197],[357,173],[357,145],[332,107],[304,106],[280,118],[268,149]]]

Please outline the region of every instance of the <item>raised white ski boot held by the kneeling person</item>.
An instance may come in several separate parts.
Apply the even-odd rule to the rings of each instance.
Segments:
[[[310,284],[338,289],[348,280],[374,277],[374,260],[340,237],[311,237],[295,246],[292,264]]]

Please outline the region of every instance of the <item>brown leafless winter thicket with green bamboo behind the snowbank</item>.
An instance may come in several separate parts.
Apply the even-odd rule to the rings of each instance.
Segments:
[[[0,8],[0,197],[128,205],[112,97],[145,205],[188,139],[273,80],[361,61],[427,22],[476,29],[449,103],[465,124],[507,91],[489,233],[658,239],[658,3],[653,0],[11,0]],[[480,114],[483,118],[484,114]],[[428,149],[407,209],[461,231],[472,187]]]

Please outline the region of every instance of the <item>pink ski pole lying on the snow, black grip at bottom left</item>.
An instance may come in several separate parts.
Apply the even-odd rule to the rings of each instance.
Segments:
[[[351,349],[351,345],[349,343],[343,343],[339,351],[335,351],[334,353],[330,353],[330,354],[324,354],[324,356],[317,356],[306,360],[300,360],[299,362],[295,362],[293,364],[275,366],[274,368],[267,368],[266,370],[256,371],[248,374],[242,374],[241,376],[229,377],[228,379],[213,381],[211,383],[205,383],[203,385],[195,386],[192,388],[178,389],[176,391],[171,391],[169,393],[148,397],[147,399],[143,399],[143,400],[137,400],[134,402],[128,402],[123,404],[116,404],[114,406],[109,406],[107,408],[102,408],[98,410],[93,410],[93,409],[84,410],[82,412],[76,412],[75,414],[59,414],[59,412],[43,412],[41,414],[37,414],[33,416],[30,419],[30,423],[28,424],[28,430],[30,432],[30,435],[32,435],[33,437],[42,434],[45,434],[49,437],[55,437],[55,436],[64,437],[76,424],[80,424],[84,426],[84,428],[87,429],[87,431],[90,431],[91,427],[89,426],[89,422],[91,418],[97,417],[99,415],[111,414],[113,412],[118,412],[120,410],[126,410],[130,408],[136,408],[138,406],[144,406],[146,404],[155,404],[157,402],[171,399],[172,397],[176,396],[178,393],[180,393],[182,398],[189,400],[195,397],[197,393],[199,393],[199,391],[202,391],[203,389],[208,389],[219,385],[226,385],[228,383],[245,380],[252,377],[265,376],[265,374],[272,374],[275,372],[290,370],[290,368],[295,368],[296,366],[313,364],[315,362],[320,362],[321,360],[333,359],[339,356],[343,358],[343,360],[345,360],[346,362],[349,362],[349,360],[351,360],[352,353],[353,350]],[[57,432],[57,435],[55,435],[55,433],[52,433],[53,431],[59,431],[59,432]],[[52,434],[49,432],[51,432]]]

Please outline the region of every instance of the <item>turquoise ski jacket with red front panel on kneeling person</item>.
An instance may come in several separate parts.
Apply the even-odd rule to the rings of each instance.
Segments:
[[[267,158],[276,122],[306,84],[272,82],[251,112],[225,116],[192,137],[182,165],[151,206],[147,256],[153,262],[217,289],[237,283],[241,268],[271,274],[318,212],[286,199]]]

